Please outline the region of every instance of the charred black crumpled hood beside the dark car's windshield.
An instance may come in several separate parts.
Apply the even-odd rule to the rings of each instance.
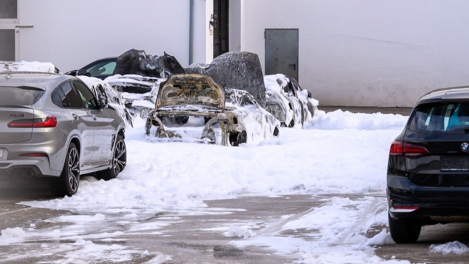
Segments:
[[[144,50],[131,49],[117,57],[114,74],[137,74],[147,77],[166,78],[170,74],[185,73],[174,56],[146,54]]]

